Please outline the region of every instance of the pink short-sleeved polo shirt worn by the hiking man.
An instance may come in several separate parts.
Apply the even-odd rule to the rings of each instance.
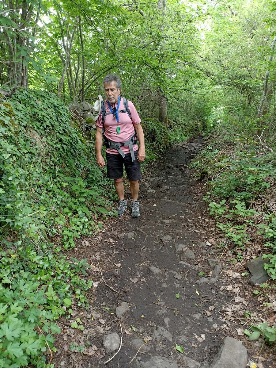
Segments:
[[[108,113],[110,112],[110,109],[108,107],[108,103],[107,100],[105,100],[105,111]],[[118,102],[115,103],[115,106],[117,107]],[[111,105],[112,107],[114,107],[113,105]],[[139,124],[141,123],[141,119],[137,113],[137,110],[135,109],[135,106],[133,105],[133,103],[131,101],[128,101],[128,107],[129,107],[129,111],[131,114],[131,119],[128,116],[128,113],[120,113],[119,112],[119,127],[120,127],[120,133],[117,134],[117,121],[116,118],[113,116],[113,114],[109,114],[105,116],[104,119],[104,135],[105,137],[107,137],[108,139],[110,139],[113,142],[125,142],[128,141],[130,139],[130,137],[133,135],[133,133],[135,132],[134,126],[133,124]],[[121,98],[120,100],[120,106],[119,106],[119,110],[125,110],[125,106],[123,104],[123,99]],[[103,119],[101,117],[101,113],[99,115],[99,117],[96,120],[96,125],[97,127],[103,128]],[[133,145],[133,151],[137,151],[138,149],[138,145],[135,144]],[[129,146],[122,146],[121,150],[123,151],[123,153],[129,153]],[[106,149],[107,153],[112,153],[114,155],[119,155],[119,152],[117,151],[117,149],[112,148]]]

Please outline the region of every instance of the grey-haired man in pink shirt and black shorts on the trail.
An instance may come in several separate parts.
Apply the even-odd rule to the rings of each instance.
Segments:
[[[118,215],[123,215],[127,206],[123,186],[123,165],[125,165],[132,195],[131,215],[139,217],[138,180],[142,178],[140,162],[146,158],[141,119],[133,103],[121,98],[121,80],[117,75],[108,74],[103,80],[103,86],[106,100],[102,103],[100,116],[96,120],[97,164],[100,167],[105,166],[101,154],[104,135],[107,148],[107,176],[114,179],[115,190],[119,197]]]

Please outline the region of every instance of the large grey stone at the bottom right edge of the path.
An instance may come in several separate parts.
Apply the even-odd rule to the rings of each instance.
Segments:
[[[246,348],[239,340],[225,337],[209,368],[245,368],[246,365]]]

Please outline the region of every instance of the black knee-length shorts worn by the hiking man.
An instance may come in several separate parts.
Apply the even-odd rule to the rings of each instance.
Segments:
[[[132,162],[130,153],[126,153],[125,158],[121,155],[106,153],[107,177],[119,179],[123,176],[123,165],[125,164],[126,175],[129,180],[139,180],[142,178],[140,162],[137,160],[138,150],[134,152],[135,161]]]

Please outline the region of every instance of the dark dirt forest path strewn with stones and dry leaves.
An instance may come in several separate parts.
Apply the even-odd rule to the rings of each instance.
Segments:
[[[247,311],[262,314],[256,287],[219,247],[206,187],[188,168],[203,146],[195,138],[172,148],[141,180],[140,218],[128,209],[68,254],[87,258],[94,284],[90,307],[73,305],[71,317],[58,321],[56,367],[102,367],[121,345],[107,367],[204,368],[226,336],[241,340],[258,368],[275,367],[271,348],[242,332],[251,325]]]

